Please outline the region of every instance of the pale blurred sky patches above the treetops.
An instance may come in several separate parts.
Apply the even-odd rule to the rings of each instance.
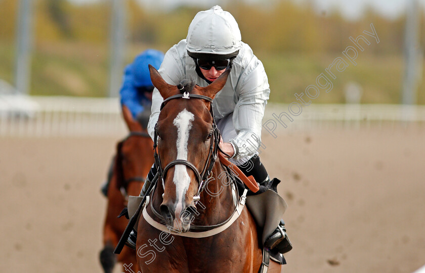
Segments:
[[[90,3],[104,0],[70,0],[75,3]],[[227,1],[225,0],[138,0],[143,3],[147,8],[162,8],[173,9],[177,6],[182,5],[196,5],[204,6],[206,8],[214,5],[224,5]],[[270,5],[276,0],[239,0],[248,3],[267,3]],[[312,2],[316,9],[320,12],[330,12],[333,9],[339,9],[343,12],[343,15],[349,19],[356,19],[362,15],[362,11],[369,5],[374,10],[382,15],[390,18],[397,17],[405,10],[406,4],[411,0],[295,0],[295,2]],[[422,8],[425,7],[425,0],[418,0]]]

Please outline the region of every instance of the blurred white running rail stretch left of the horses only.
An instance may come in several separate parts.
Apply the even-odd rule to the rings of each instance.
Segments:
[[[31,97],[26,113],[0,109],[0,136],[120,136],[126,126],[117,98]],[[1,106],[1,105],[0,105]]]

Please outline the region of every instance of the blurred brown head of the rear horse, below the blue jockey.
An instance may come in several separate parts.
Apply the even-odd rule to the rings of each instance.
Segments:
[[[122,115],[130,134],[117,145],[117,187],[129,195],[139,195],[145,176],[153,164],[153,142],[146,128],[133,119],[126,106],[122,106]]]

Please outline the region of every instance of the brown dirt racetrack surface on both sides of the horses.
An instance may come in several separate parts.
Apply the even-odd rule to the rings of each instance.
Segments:
[[[117,139],[0,139],[0,272],[101,272],[99,187]],[[424,139],[423,126],[264,133],[289,204],[283,272],[425,264]]]

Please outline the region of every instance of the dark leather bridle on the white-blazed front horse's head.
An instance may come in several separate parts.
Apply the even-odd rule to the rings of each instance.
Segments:
[[[200,193],[203,191],[205,184],[206,184],[206,181],[210,178],[210,176],[212,174],[211,171],[212,171],[212,168],[214,168],[214,163],[216,162],[216,159],[217,159],[217,152],[218,152],[218,150],[222,151],[219,147],[221,135],[220,135],[220,130],[218,129],[218,127],[216,125],[216,121],[214,119],[214,112],[212,111],[212,98],[204,96],[204,95],[189,94],[189,92],[184,92],[183,94],[178,94],[178,95],[174,95],[174,96],[166,98],[162,102],[160,110],[162,110],[162,108],[166,105],[166,103],[168,101],[170,101],[172,99],[178,99],[178,98],[185,98],[185,99],[197,98],[197,99],[206,100],[210,103],[209,113],[211,114],[211,117],[212,117],[213,133],[212,133],[212,136],[210,138],[208,157],[207,157],[207,159],[204,163],[204,167],[202,168],[202,172],[199,172],[198,169],[193,165],[193,163],[189,162],[188,160],[184,160],[184,159],[173,160],[173,161],[169,162],[165,166],[164,169],[162,169],[161,159],[159,158],[159,154],[157,153],[158,131],[157,131],[156,125],[155,125],[154,140],[153,140],[153,149],[154,149],[153,156],[155,158],[155,165],[158,168],[158,178],[161,179],[160,181],[162,183],[163,189],[165,189],[165,186],[164,186],[165,175],[166,175],[167,171],[169,169],[171,169],[172,167],[174,167],[176,165],[185,165],[193,171],[193,173],[195,174],[196,180],[199,183],[197,194],[195,196],[193,196],[193,200],[197,202],[200,199]]]

